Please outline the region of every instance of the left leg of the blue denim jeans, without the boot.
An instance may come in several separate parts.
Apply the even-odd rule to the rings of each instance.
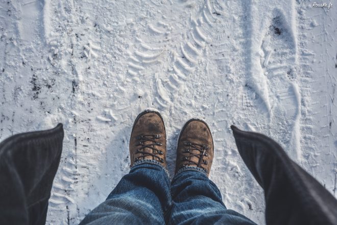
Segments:
[[[138,161],[80,224],[164,224],[172,204],[170,187],[167,170],[157,161]]]

